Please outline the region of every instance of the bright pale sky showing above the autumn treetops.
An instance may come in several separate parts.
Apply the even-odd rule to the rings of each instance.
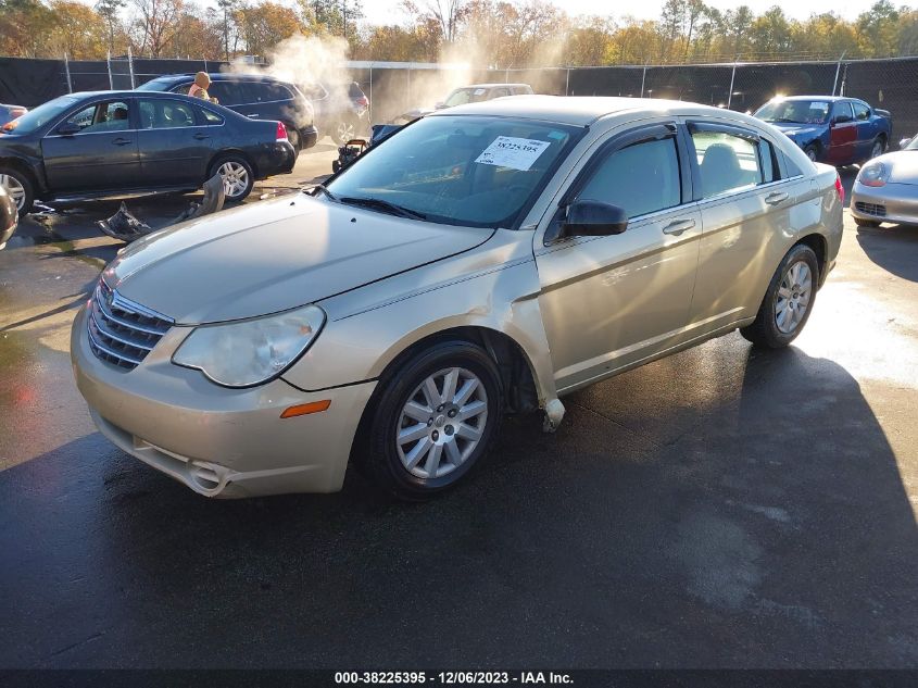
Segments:
[[[436,0],[435,0],[436,1]],[[366,22],[372,24],[393,24],[402,23],[406,15],[401,11],[401,0],[363,0],[363,13]],[[424,5],[424,0],[417,2],[418,5]],[[612,15],[614,18],[619,18],[625,15],[632,15],[640,20],[652,20],[659,16],[659,8],[663,5],[661,0],[650,0],[644,2],[599,2],[598,0],[555,0],[554,4],[563,7],[564,10],[571,16],[578,14],[600,14],[603,16]],[[735,9],[740,4],[747,4],[753,12],[762,14],[776,4],[780,7],[784,14],[792,18],[805,20],[810,14],[821,14],[823,12],[834,12],[846,20],[852,20],[858,14],[867,10],[872,0],[805,0],[803,2],[788,2],[784,0],[706,0],[706,4],[726,11]],[[895,2],[894,4],[900,4]]]

